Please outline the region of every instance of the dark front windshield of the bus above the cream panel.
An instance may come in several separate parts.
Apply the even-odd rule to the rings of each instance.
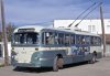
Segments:
[[[38,33],[15,33],[13,44],[38,44]]]

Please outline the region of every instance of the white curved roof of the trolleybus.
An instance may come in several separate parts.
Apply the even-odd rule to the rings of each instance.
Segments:
[[[87,31],[81,31],[81,30],[75,30],[75,29],[61,29],[61,28],[44,28],[44,26],[40,26],[40,25],[28,25],[28,26],[20,26],[18,29],[14,30],[14,33],[18,32],[19,29],[35,29],[35,32],[40,32],[41,30],[47,30],[47,31],[62,31],[62,32],[68,32],[68,33],[75,33],[75,34],[80,34],[80,35],[91,35],[91,36],[99,36],[98,34],[95,33],[90,33]]]

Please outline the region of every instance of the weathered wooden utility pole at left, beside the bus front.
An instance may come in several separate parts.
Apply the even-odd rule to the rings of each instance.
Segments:
[[[0,0],[0,7],[1,7],[1,24],[2,24],[2,39],[3,39],[3,48],[4,48],[4,65],[9,65],[9,56],[8,56],[8,40],[7,40],[7,33],[6,33],[6,21],[4,21],[4,7],[3,1]]]

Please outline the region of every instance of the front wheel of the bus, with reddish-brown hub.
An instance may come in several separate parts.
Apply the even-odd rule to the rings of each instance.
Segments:
[[[57,72],[58,68],[63,68],[63,65],[64,65],[64,59],[58,57],[58,56],[56,56],[54,58],[53,70]]]

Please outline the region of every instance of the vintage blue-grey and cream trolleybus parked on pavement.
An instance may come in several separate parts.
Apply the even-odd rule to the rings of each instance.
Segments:
[[[12,35],[12,65],[15,67],[53,67],[94,61],[102,55],[101,37],[75,29],[21,26]]]

